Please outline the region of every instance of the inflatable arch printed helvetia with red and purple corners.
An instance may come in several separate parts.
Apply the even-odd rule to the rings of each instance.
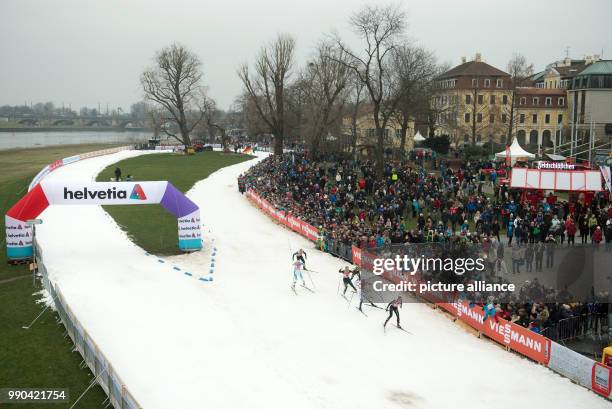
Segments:
[[[43,180],[6,213],[7,256],[9,260],[32,257],[32,227],[26,221],[38,217],[49,205],[143,204],[160,204],[177,218],[181,250],[202,248],[200,209],[169,182]]]

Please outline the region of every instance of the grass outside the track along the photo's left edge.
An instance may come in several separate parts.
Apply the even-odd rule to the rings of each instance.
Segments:
[[[78,153],[108,148],[111,145],[67,145],[35,149],[0,151],[0,211],[2,215],[27,190],[32,178],[56,159]],[[4,222],[4,217],[2,217]],[[4,248],[4,229],[0,239],[0,388],[56,387],[68,388],[74,400],[87,388],[92,375],[79,368],[81,356],[72,352],[70,338],[64,338],[64,327],[57,325],[57,314],[47,310],[30,330],[28,325],[42,310],[36,304],[40,283],[33,286],[26,266],[9,266]],[[105,394],[99,386],[92,388],[79,402],[79,408],[103,408]],[[9,405],[2,408],[40,408],[41,405]],[[69,404],[44,405],[69,408]]]

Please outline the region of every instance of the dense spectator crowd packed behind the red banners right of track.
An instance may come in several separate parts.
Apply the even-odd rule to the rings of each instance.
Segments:
[[[266,158],[238,182],[241,191],[252,188],[277,209],[317,227],[322,247],[333,242],[375,251],[392,244],[464,242],[480,244],[503,260],[506,246],[514,274],[522,266],[528,273],[542,271],[543,264],[552,267],[554,248],[575,245],[576,235],[581,243],[603,242],[612,249],[609,192],[571,203],[552,194],[527,195],[502,183],[507,171],[488,161],[412,155],[388,161],[379,174],[369,160],[315,161],[291,152]],[[606,308],[570,297],[551,302],[537,279],[524,288],[532,301],[493,306],[496,316],[536,332]]]

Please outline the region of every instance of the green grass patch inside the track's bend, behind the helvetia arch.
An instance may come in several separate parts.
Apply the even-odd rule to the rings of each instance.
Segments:
[[[130,174],[134,180],[168,180],[177,189],[186,192],[195,182],[217,169],[250,158],[248,155],[221,152],[202,152],[193,156],[172,153],[144,155],[109,166],[100,173],[98,180],[110,180],[118,166],[123,177]],[[176,219],[161,206],[105,206],[105,210],[134,243],[148,252],[158,255],[180,254]]]

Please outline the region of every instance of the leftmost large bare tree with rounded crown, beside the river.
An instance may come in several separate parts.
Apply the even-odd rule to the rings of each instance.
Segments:
[[[172,44],[157,52],[155,67],[140,77],[146,98],[163,107],[178,128],[178,134],[167,127],[163,131],[185,146],[191,145],[189,134],[204,118],[201,65],[194,53]]]

